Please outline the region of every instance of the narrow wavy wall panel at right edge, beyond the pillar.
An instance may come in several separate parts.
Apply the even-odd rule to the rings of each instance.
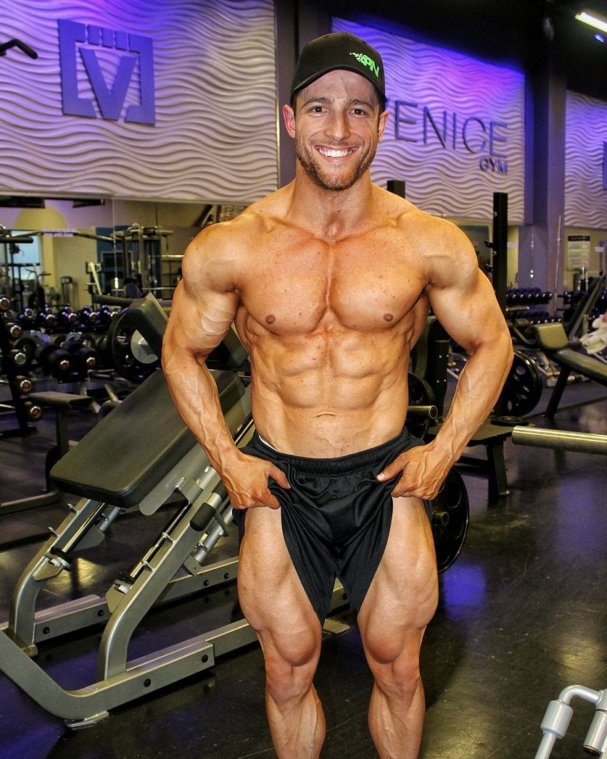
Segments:
[[[607,143],[607,103],[567,93],[565,139],[565,224],[607,228],[603,152]]]

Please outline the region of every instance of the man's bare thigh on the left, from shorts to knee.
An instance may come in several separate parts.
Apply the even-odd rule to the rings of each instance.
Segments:
[[[272,645],[296,661],[320,646],[322,628],[285,546],[280,509],[247,512],[238,598],[264,649]]]

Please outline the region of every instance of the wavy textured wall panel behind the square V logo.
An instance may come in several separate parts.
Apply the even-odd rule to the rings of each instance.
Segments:
[[[249,203],[276,189],[272,0],[4,0],[2,10],[2,41],[17,37],[39,57],[0,58],[0,192]],[[94,118],[62,112],[59,19],[118,40],[91,44],[89,33],[71,58]],[[154,124],[125,121],[149,94],[139,54],[118,48],[129,34],[153,42]],[[97,91],[86,50],[102,71]],[[102,118],[96,93],[105,83],[108,102],[119,99],[112,87],[129,56],[118,119]]]

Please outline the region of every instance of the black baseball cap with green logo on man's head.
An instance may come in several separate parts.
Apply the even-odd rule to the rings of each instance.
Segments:
[[[382,56],[364,39],[349,32],[326,34],[304,47],[291,82],[291,103],[299,90],[336,68],[354,71],[365,77],[376,88],[382,106],[385,104]]]

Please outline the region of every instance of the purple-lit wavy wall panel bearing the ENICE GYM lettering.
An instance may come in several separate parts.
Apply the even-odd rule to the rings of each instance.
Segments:
[[[509,222],[523,223],[523,74],[341,19],[333,29],[366,39],[384,61],[390,118],[373,180],[404,179],[420,208],[473,219],[491,219],[493,193],[505,192]]]

